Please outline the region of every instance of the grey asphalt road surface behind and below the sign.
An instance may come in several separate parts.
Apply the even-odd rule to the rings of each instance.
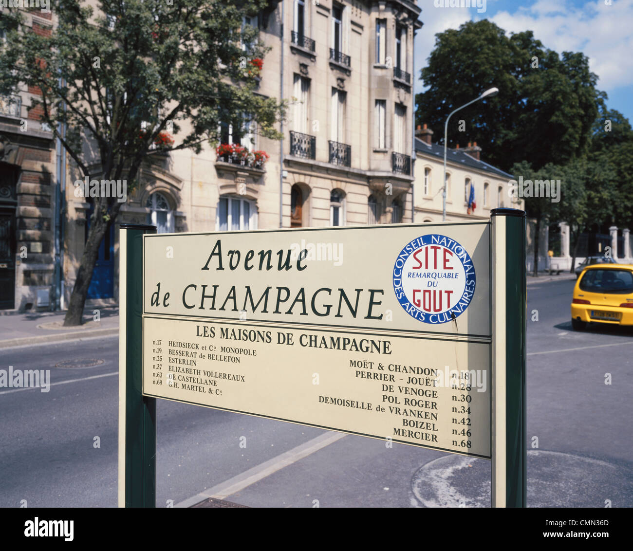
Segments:
[[[529,287],[528,505],[630,507],[633,331],[572,331],[572,288]],[[0,391],[0,506],[116,505],[117,354],[116,337],[0,350],[0,368],[50,369],[53,383]],[[56,367],[91,360],[103,362]],[[158,507],[205,491],[277,507],[487,506],[489,496],[485,460],[166,400],[157,442]]]

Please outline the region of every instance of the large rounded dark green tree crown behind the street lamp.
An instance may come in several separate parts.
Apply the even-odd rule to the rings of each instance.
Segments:
[[[603,104],[598,77],[582,53],[559,55],[532,31],[506,35],[489,20],[467,22],[436,35],[436,45],[417,94],[417,124],[427,123],[443,143],[453,109],[497,87],[451,123],[448,146],[477,141],[486,161],[509,171],[523,160],[538,170],[586,153],[591,128]],[[464,131],[460,122],[464,120]]]

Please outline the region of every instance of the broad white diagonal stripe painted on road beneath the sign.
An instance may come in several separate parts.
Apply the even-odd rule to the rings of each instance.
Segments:
[[[318,452],[318,450],[337,442],[337,440],[345,438],[345,436],[347,435],[328,431],[324,435],[317,436],[312,440],[308,440],[306,443],[288,450],[285,454],[277,455],[277,457],[273,457],[272,459],[263,462],[261,465],[248,469],[248,471],[244,471],[244,473],[237,474],[237,476],[229,478],[229,480],[215,485],[213,488],[204,490],[204,492],[197,493],[196,495],[193,495],[174,506],[191,507],[191,505],[195,505],[210,497],[215,499],[224,499],[232,493],[244,490],[244,488],[262,480],[263,478],[266,478],[266,476],[276,473],[280,469],[299,461],[299,459],[308,457],[308,455]]]

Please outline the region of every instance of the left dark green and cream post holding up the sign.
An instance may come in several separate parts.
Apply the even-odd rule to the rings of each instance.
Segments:
[[[142,395],[143,234],[155,226],[122,224],[119,233],[119,507],[156,507],[156,399]]]

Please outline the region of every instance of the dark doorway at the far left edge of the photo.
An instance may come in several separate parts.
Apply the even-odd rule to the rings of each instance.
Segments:
[[[0,163],[0,310],[15,307],[15,189],[20,168]]]

